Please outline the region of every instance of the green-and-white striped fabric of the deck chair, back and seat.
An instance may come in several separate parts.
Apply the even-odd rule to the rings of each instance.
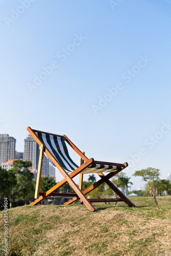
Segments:
[[[65,143],[65,138],[53,136],[45,133],[35,132],[38,138],[42,143],[45,144],[50,153],[57,159],[60,165],[67,171],[67,173],[73,172],[73,170],[78,168],[78,165],[74,163],[71,159],[68,148]],[[46,155],[46,154],[45,154]],[[56,168],[56,166],[52,163],[52,161],[48,158],[52,166]],[[82,174],[91,174],[91,173],[107,173],[112,172],[117,169],[117,166],[113,165],[102,165],[102,164],[91,164],[86,169],[84,169]]]

